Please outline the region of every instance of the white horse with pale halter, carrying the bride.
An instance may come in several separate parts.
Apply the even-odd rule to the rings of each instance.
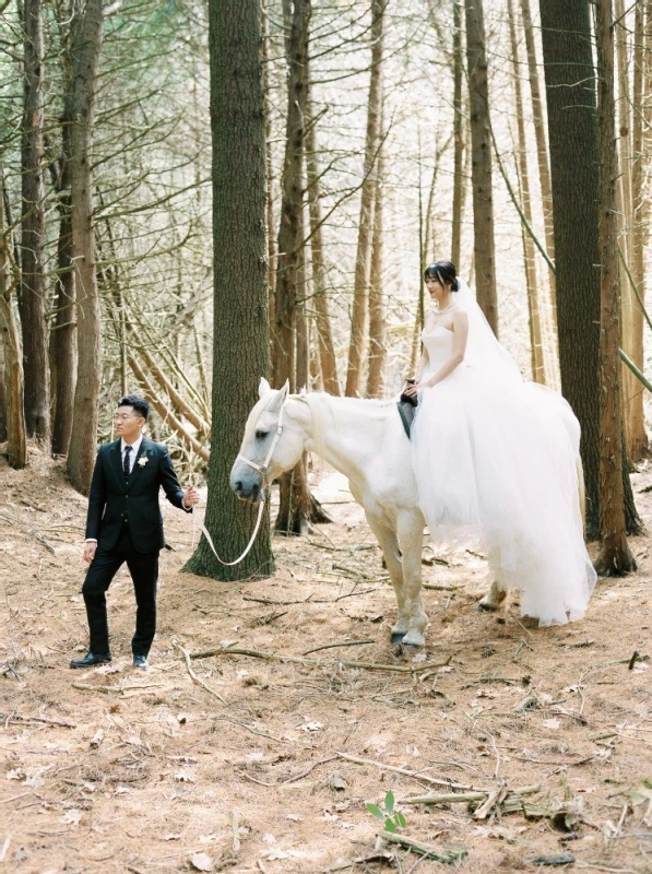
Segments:
[[[396,604],[392,642],[423,646],[428,623],[422,606],[422,548],[425,519],[410,441],[394,403],[334,398],[321,392],[289,394],[287,382],[273,390],[261,379],[260,400],[249,414],[230,487],[244,500],[261,499],[270,483],[291,470],[308,449],[348,479],[384,555]],[[479,602],[497,610],[507,592],[499,581]]]

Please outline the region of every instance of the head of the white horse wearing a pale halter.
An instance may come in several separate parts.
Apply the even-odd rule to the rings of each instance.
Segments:
[[[240,451],[230,470],[230,487],[242,500],[258,503],[263,492],[263,474],[271,483],[292,470],[304,451],[306,434],[288,415],[285,404],[289,383],[274,390],[260,380],[260,400],[249,413]]]

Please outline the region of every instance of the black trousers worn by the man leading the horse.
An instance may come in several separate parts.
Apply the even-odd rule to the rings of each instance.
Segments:
[[[137,553],[126,522],[112,550],[97,547],[82,588],[91,631],[91,652],[104,654],[109,651],[105,592],[127,562],[137,603],[135,634],[131,640],[131,649],[134,656],[147,656],[156,631],[158,552]]]

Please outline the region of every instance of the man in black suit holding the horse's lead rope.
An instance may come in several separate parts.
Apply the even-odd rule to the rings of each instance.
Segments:
[[[97,452],[84,547],[84,560],[91,567],[82,588],[91,646],[83,659],[70,662],[71,668],[110,662],[105,593],[125,562],[137,603],[133,664],[147,666],[156,630],[158,553],[164,545],[158,492],[163,486],[170,504],[186,512],[199,503],[192,486],[181,489],[167,448],[143,437],[149,414],[150,405],[142,398],[122,398],[115,416],[119,438]]]

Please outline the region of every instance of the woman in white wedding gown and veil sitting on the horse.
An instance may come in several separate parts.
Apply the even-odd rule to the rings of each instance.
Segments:
[[[580,426],[521,374],[450,261],[425,272],[428,310],[412,426],[419,507],[435,542],[481,546],[494,588],[540,626],[584,616],[595,571],[578,499]]]

